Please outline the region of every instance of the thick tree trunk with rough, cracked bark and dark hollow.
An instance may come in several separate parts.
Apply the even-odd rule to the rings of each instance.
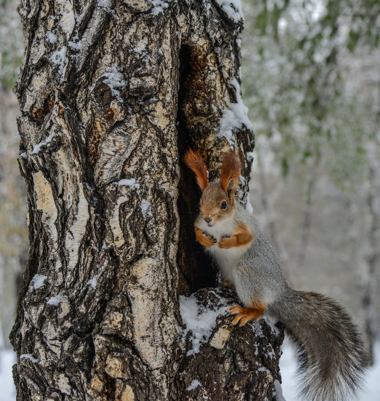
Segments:
[[[223,151],[253,148],[235,107],[242,21],[228,7],[22,0],[30,257],[11,333],[18,401],[275,399],[281,330],[235,328],[222,313],[225,339],[186,356],[179,309],[180,294],[217,276],[195,243],[199,192],[181,157],[196,148],[215,172]]]

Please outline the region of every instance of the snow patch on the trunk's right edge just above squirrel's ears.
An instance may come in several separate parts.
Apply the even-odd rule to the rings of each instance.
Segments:
[[[234,144],[233,130],[240,129],[243,125],[252,130],[252,124],[248,118],[248,108],[244,106],[241,98],[240,85],[234,78],[231,84],[235,87],[236,103],[229,103],[223,110],[223,115],[219,120],[218,138],[226,138],[230,145]]]

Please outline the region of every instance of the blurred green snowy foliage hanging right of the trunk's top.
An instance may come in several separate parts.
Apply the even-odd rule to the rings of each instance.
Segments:
[[[367,171],[370,129],[368,105],[347,85],[347,71],[355,52],[378,43],[380,3],[267,0],[244,6],[243,96],[256,137],[266,138],[284,175],[300,163],[307,173],[320,155],[331,155],[328,173],[351,191]]]

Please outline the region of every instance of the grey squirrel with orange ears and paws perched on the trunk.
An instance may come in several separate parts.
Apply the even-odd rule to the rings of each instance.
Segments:
[[[296,344],[300,396],[308,401],[351,400],[361,388],[370,357],[351,317],[333,299],[298,291],[285,279],[280,260],[255,217],[235,200],[241,172],[236,151],[224,156],[220,179],[209,182],[199,153],[184,161],[202,190],[194,228],[216,260],[240,305],[229,308],[232,324],[258,320],[267,310]]]

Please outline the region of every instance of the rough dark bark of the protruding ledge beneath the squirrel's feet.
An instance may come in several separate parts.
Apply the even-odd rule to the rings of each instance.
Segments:
[[[200,289],[194,297],[210,310],[237,302],[236,294],[225,288]],[[186,401],[277,400],[275,380],[280,380],[278,359],[284,338],[282,323],[268,316],[243,327],[231,325],[225,314],[199,352],[192,352],[187,333],[187,353],[182,361],[178,388]],[[190,348],[190,350],[189,350]],[[185,374],[182,374],[185,372]]]

